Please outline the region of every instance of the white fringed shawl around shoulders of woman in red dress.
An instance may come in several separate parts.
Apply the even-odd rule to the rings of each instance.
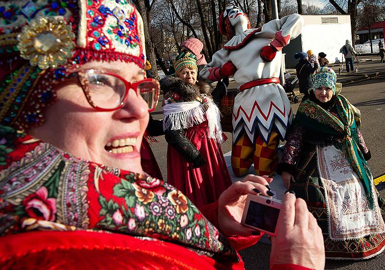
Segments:
[[[163,106],[163,130],[181,130],[192,128],[208,121],[208,136],[218,142],[224,141],[221,127],[221,114],[214,102],[207,98],[205,110],[199,101],[167,103]]]

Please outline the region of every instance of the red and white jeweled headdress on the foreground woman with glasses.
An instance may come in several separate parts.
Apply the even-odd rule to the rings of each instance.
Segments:
[[[143,21],[128,0],[0,1],[0,123],[40,125],[67,68],[146,63]]]

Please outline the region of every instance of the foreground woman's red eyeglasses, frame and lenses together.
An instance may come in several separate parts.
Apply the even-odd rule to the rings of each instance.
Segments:
[[[117,74],[95,69],[81,70],[72,74],[77,74],[89,105],[98,111],[108,112],[122,108],[130,89],[146,101],[149,112],[153,112],[158,103],[160,86],[155,79],[131,83]]]

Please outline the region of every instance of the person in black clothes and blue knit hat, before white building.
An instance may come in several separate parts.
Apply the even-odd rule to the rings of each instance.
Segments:
[[[314,63],[314,67],[308,61],[308,55],[304,52],[296,53],[295,59],[299,59],[296,66],[297,78],[300,85],[300,93],[304,94],[302,101],[308,99],[309,89],[313,87],[313,73],[318,68],[318,63]]]

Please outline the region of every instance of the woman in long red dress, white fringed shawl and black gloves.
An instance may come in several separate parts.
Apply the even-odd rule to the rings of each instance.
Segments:
[[[176,78],[170,79],[163,99],[168,182],[202,207],[231,186],[220,147],[220,113],[211,87],[197,82],[195,55],[182,53],[174,67]]]

